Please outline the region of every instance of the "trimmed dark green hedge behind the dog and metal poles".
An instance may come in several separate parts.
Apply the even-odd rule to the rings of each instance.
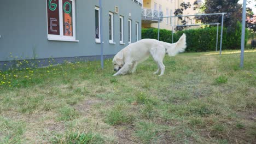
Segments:
[[[241,46],[241,24],[237,22],[235,31],[227,31],[227,28],[223,28],[223,50],[234,50],[240,49]],[[219,40],[218,50],[220,43],[220,31],[219,27]],[[216,33],[217,27],[206,27],[197,29],[187,29],[184,31],[178,31],[173,34],[173,42],[178,41],[179,37],[185,33],[187,35],[187,52],[200,52],[200,51],[215,51],[216,50]],[[248,31],[246,31],[246,42],[247,42]],[[157,28],[143,28],[142,39],[157,39],[158,29]],[[160,29],[160,41],[172,43],[172,32],[166,29]],[[246,44],[246,43],[245,43]]]

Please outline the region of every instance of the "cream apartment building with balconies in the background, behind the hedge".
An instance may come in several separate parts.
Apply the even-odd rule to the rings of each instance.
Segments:
[[[142,28],[158,28],[158,16],[174,16],[174,11],[181,8],[183,2],[190,2],[191,4],[191,8],[184,10],[183,15],[199,13],[199,11],[193,10],[195,0],[143,0]],[[197,2],[199,5],[202,4],[202,0],[197,0]],[[193,17],[190,17],[190,19],[185,18],[188,25],[196,23]],[[177,17],[160,19],[160,29],[172,30],[171,25],[182,25],[182,22]]]

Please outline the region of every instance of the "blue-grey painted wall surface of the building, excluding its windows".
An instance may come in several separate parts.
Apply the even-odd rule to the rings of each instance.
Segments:
[[[115,55],[128,45],[128,19],[132,20],[132,43],[136,41],[135,22],[141,39],[141,6],[131,0],[102,0],[104,55]],[[114,42],[109,44],[109,11],[114,13]],[[76,0],[76,39],[79,42],[48,40],[46,0],[8,0],[0,4],[0,62],[19,59],[99,56],[95,42],[95,6],[98,0]],[[131,17],[129,16],[131,13]],[[124,16],[124,43],[119,43],[119,16]],[[10,57],[10,52],[13,57]]]

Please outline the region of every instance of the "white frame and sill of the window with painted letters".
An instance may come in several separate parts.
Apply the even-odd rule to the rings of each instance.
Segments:
[[[66,36],[63,34],[63,4],[62,0],[59,0],[59,26],[60,26],[60,35],[56,34],[48,34],[49,31],[49,26],[48,26],[48,3],[46,0],[46,22],[47,22],[47,38],[48,40],[56,40],[56,41],[76,41],[78,42],[79,40],[76,40],[76,21],[75,21],[75,0],[68,0],[72,2],[72,32],[73,36]],[[61,7],[60,7],[61,5]]]

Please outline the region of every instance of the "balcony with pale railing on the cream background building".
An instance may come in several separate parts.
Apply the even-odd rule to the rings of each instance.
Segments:
[[[153,10],[149,8],[142,8],[141,11],[142,21],[144,23],[157,23],[158,17],[162,17],[162,11]],[[160,22],[162,22],[162,18],[160,18]]]

